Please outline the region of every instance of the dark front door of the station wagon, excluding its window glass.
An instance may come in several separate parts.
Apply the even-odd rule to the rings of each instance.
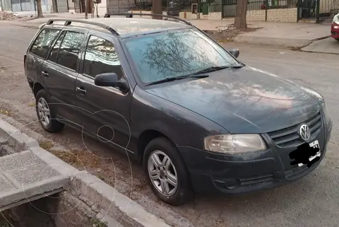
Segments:
[[[86,43],[90,35],[112,42],[123,69],[123,71],[119,71],[119,75],[124,74],[124,79],[129,85],[129,91],[122,92],[119,88],[96,86],[94,78],[84,74],[86,48],[83,48],[80,54],[79,76],[76,79],[76,107],[78,118],[81,120],[81,127],[83,127],[83,132],[96,137],[109,146],[116,147],[119,151],[134,153],[134,151],[126,148],[129,146],[131,136],[130,103],[136,82],[131,75],[131,69],[119,40],[106,33],[91,30],[86,37]]]

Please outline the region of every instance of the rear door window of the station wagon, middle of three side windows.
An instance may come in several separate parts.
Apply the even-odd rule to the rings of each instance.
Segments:
[[[83,33],[67,31],[60,45],[57,64],[76,70],[78,55],[84,39],[85,34]]]

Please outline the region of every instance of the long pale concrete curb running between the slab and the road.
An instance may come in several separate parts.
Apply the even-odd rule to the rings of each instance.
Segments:
[[[68,175],[73,182],[71,187],[80,189],[79,197],[85,193],[83,201],[96,206],[105,206],[109,212],[97,211],[98,215],[105,214],[105,221],[121,220],[122,226],[140,226],[140,227],[169,227],[163,219],[148,213],[142,206],[124,196],[113,187],[107,185],[99,178],[87,173],[79,171],[73,166],[65,163],[61,159],[54,156],[49,151],[42,149],[35,139],[32,139],[26,134],[20,132],[19,129],[13,127],[8,122],[0,119],[0,136],[8,139],[8,144],[20,148],[21,151],[29,150],[39,156],[44,162],[56,168],[59,173]],[[78,190],[79,191],[79,190]],[[88,194],[90,193],[90,194]],[[94,209],[95,210],[95,209]],[[107,215],[109,213],[109,215]],[[116,224],[116,222],[114,222]],[[108,223],[109,226],[114,226],[114,223]],[[115,225],[116,226],[116,225]]]

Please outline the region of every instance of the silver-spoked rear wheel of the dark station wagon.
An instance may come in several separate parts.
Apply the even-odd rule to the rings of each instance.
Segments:
[[[45,103],[45,105],[44,105]],[[51,132],[51,133],[56,133],[56,132],[61,132],[62,129],[64,129],[65,124],[58,122],[56,120],[56,112],[55,112],[55,107],[49,105],[50,99],[49,99],[49,95],[47,95],[46,91],[44,89],[40,90],[35,98],[35,110],[37,111],[37,119],[40,122],[40,125],[42,126],[42,128],[47,131],[47,132]],[[49,121],[47,122],[46,117],[47,114],[43,114],[47,113],[47,109],[44,108],[44,110],[42,110],[42,107],[40,106],[45,106],[48,108],[49,110]],[[43,117],[44,116],[44,117]]]

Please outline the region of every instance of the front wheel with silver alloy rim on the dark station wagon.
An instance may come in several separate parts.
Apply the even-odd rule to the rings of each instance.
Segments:
[[[160,167],[160,170],[155,170],[156,167],[154,165],[154,161],[152,161],[152,157],[154,158],[155,156],[157,156],[159,158],[158,160],[161,162],[164,161],[165,156],[167,156],[166,160],[168,161],[169,158],[170,161],[170,164],[167,165],[169,168],[165,168],[165,166],[161,163],[162,166]],[[164,159],[161,159],[162,157]],[[186,170],[186,165],[184,164],[182,157],[179,156],[177,148],[168,139],[160,137],[150,141],[143,153],[143,168],[148,184],[157,197],[163,202],[172,206],[179,206],[191,199],[192,190],[191,185],[189,184],[189,175]],[[150,174],[149,169],[153,170],[153,174]],[[167,169],[169,171],[167,171]],[[160,186],[160,179],[154,180],[153,178],[152,180],[151,175],[155,176],[155,178],[161,177],[162,182],[167,182],[168,193],[165,193],[165,191],[161,192],[161,186],[166,183]],[[177,178],[177,187],[172,185],[172,183],[169,183],[174,182],[173,176]]]

